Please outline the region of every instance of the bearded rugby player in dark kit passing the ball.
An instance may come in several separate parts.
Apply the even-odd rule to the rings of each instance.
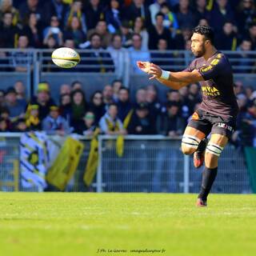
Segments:
[[[224,54],[214,47],[210,26],[197,26],[191,37],[191,50],[196,57],[181,72],[169,72],[150,62],[138,67],[174,90],[199,82],[202,103],[186,126],[182,136],[183,154],[194,154],[196,168],[205,163],[197,206],[207,206],[207,197],[218,172],[218,158],[234,131],[238,104],[233,90],[233,72]],[[206,137],[210,135],[207,142]]]

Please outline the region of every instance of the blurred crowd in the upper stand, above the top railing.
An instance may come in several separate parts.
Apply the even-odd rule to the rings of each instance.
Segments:
[[[191,29],[198,24],[214,28],[220,50],[256,47],[254,0],[2,0],[0,4],[0,48],[185,50],[190,47]]]

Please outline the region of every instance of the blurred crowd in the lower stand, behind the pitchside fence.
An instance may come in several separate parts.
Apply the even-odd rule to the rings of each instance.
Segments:
[[[256,90],[236,82],[234,93],[240,113],[232,142],[236,146],[256,146]],[[24,85],[17,81],[6,91],[0,90],[0,131],[93,135],[99,127],[102,134],[162,134],[177,138],[201,102],[198,84],[167,91],[164,102],[158,100],[154,84],[138,88],[131,98],[121,80],[87,96],[90,100],[86,100],[82,82],[74,81],[60,86],[59,102],[54,102],[50,85],[42,82],[28,101]]]

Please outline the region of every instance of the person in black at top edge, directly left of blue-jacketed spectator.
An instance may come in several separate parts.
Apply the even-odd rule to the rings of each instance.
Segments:
[[[87,30],[94,29],[98,21],[105,18],[105,14],[99,0],[90,0],[85,8]]]

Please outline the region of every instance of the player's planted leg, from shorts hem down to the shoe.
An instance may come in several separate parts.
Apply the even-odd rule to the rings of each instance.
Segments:
[[[211,134],[206,146],[205,169],[202,171],[202,186],[198,195],[198,206],[206,206],[207,197],[218,173],[218,158],[228,138],[222,134]]]

